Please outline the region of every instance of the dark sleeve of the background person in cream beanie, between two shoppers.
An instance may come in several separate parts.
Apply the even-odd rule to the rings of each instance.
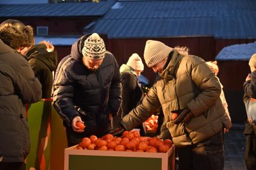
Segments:
[[[135,76],[131,75],[130,73],[124,72],[121,74],[121,81],[122,81],[122,115],[125,116],[129,114],[133,108],[135,108],[135,88],[136,88],[136,80]]]

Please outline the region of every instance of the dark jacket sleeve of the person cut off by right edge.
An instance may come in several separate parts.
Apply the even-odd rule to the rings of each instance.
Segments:
[[[243,90],[249,98],[256,98],[256,71],[252,72],[251,80],[243,83]]]

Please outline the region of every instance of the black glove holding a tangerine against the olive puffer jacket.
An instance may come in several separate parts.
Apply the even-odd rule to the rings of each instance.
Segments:
[[[190,110],[188,108],[185,108],[184,110],[180,110],[180,111],[171,111],[171,113],[177,113],[178,117],[174,120],[172,120],[171,122],[178,125],[180,123],[189,123],[190,120],[193,117],[193,114],[190,112]]]

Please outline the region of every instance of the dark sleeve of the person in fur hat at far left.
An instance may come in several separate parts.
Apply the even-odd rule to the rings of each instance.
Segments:
[[[17,79],[14,82],[17,94],[22,99],[23,104],[40,101],[42,91],[39,80],[35,77],[31,66],[25,59],[20,60],[20,65],[19,71],[16,72]]]

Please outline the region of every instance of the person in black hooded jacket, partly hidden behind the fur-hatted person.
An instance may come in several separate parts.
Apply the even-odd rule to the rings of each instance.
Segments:
[[[42,98],[50,98],[53,85],[53,74],[57,66],[57,52],[50,42],[41,41],[34,45],[25,54],[31,65],[35,77],[42,84]]]

